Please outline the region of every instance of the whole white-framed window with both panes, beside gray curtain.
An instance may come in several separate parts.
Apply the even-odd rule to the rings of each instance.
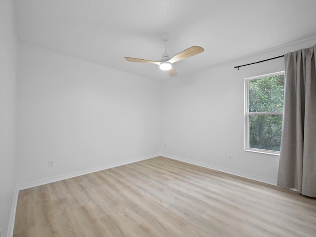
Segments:
[[[284,101],[284,71],[245,79],[245,151],[278,155]]]

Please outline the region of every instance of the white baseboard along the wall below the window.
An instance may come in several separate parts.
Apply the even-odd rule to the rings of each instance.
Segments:
[[[223,168],[223,167],[219,167],[219,166],[215,166],[215,165],[211,165],[211,164],[206,164],[206,163],[195,161],[195,160],[191,160],[191,159],[180,158],[180,157],[176,157],[176,156],[172,156],[172,155],[161,154],[161,156],[162,157],[166,157],[166,158],[170,158],[170,159],[176,159],[176,160],[179,160],[179,161],[183,161],[183,162],[186,162],[186,163],[189,163],[189,164],[194,164],[194,165],[198,165],[198,166],[209,168],[209,169],[214,169],[214,170],[221,171],[221,172],[224,172],[224,173],[233,174],[233,175],[236,175],[236,176],[239,176],[239,177],[243,177],[243,178],[259,181],[259,182],[262,182],[262,183],[272,184],[272,185],[276,186],[276,180],[274,180],[274,179],[268,179],[268,178],[265,178],[265,177],[261,177],[261,176],[257,176],[257,175],[253,175],[253,174],[248,174],[248,173],[244,173],[244,172],[240,172],[240,171],[237,171],[237,170],[227,169],[227,168]]]

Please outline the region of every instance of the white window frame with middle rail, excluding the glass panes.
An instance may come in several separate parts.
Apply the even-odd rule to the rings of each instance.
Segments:
[[[279,151],[251,148],[249,145],[250,144],[249,143],[250,116],[260,116],[260,115],[282,115],[283,116],[283,111],[282,112],[249,112],[249,80],[266,78],[266,77],[271,77],[275,75],[281,75],[284,73],[285,71],[280,71],[276,73],[269,73],[269,74],[264,74],[264,75],[244,79],[244,119],[243,119],[244,120],[244,129],[243,129],[244,130],[244,142],[243,142],[244,146],[243,146],[243,150],[246,152],[263,153],[263,154],[269,154],[269,155],[275,155],[275,156],[280,155]]]

